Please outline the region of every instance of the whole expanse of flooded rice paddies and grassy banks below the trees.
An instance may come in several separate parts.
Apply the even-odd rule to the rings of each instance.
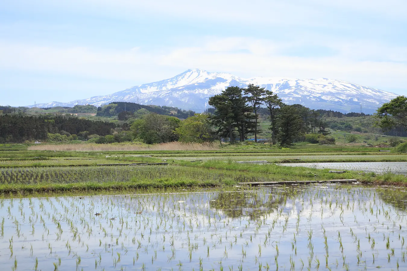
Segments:
[[[0,267],[407,267],[405,154],[318,145],[80,147],[0,145]]]

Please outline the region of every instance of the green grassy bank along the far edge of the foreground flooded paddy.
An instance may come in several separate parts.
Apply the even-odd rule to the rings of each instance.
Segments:
[[[371,173],[361,173],[348,171],[346,173],[329,173],[328,169],[310,169],[305,167],[282,167],[278,165],[240,165],[236,163],[217,163],[213,161],[204,162],[201,165],[194,165],[208,171],[222,169],[231,171],[232,176],[228,178],[206,179],[197,176],[185,177],[162,177],[162,178],[140,178],[133,177],[129,181],[107,180],[101,182],[84,181],[74,183],[1,183],[0,193],[44,193],[44,192],[65,192],[65,191],[123,191],[123,190],[145,190],[145,189],[168,189],[168,188],[202,188],[202,187],[225,187],[238,184],[237,178],[247,177],[246,183],[250,181],[262,181],[264,176],[268,180],[332,180],[332,179],[356,179],[364,184],[392,184],[407,186],[405,176],[394,173],[381,175]],[[250,173],[245,176],[245,173]]]

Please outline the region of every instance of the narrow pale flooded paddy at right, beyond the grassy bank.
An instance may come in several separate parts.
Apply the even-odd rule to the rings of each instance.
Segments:
[[[284,163],[289,167],[312,167],[317,169],[348,169],[376,173],[407,174],[407,162],[334,162],[334,163]]]

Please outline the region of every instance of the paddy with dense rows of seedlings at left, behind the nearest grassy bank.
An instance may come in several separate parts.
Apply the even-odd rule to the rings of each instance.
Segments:
[[[276,165],[270,165],[275,166]],[[267,173],[239,172],[221,169],[204,169],[180,166],[90,166],[90,167],[21,167],[0,168],[1,184],[76,183],[76,182],[129,182],[135,179],[193,178],[195,180],[220,180],[231,178],[244,181],[289,180],[287,176]],[[314,180],[314,177],[306,180]]]

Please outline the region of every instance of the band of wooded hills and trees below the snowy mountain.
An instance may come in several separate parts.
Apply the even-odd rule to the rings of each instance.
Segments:
[[[407,136],[403,127],[382,130],[376,116],[287,105],[275,93],[254,85],[247,89],[228,87],[210,98],[209,104],[212,107],[201,115],[174,107],[129,102],[112,102],[98,108],[91,105],[72,108],[0,106],[0,142],[92,139],[96,143],[134,140],[233,143],[259,139],[271,144],[291,145],[298,141],[332,144],[335,143],[335,138],[330,136],[333,132],[370,134],[352,137],[355,141],[376,138],[373,134]],[[97,112],[96,116],[79,116],[92,112]],[[75,113],[78,116],[73,116]]]

